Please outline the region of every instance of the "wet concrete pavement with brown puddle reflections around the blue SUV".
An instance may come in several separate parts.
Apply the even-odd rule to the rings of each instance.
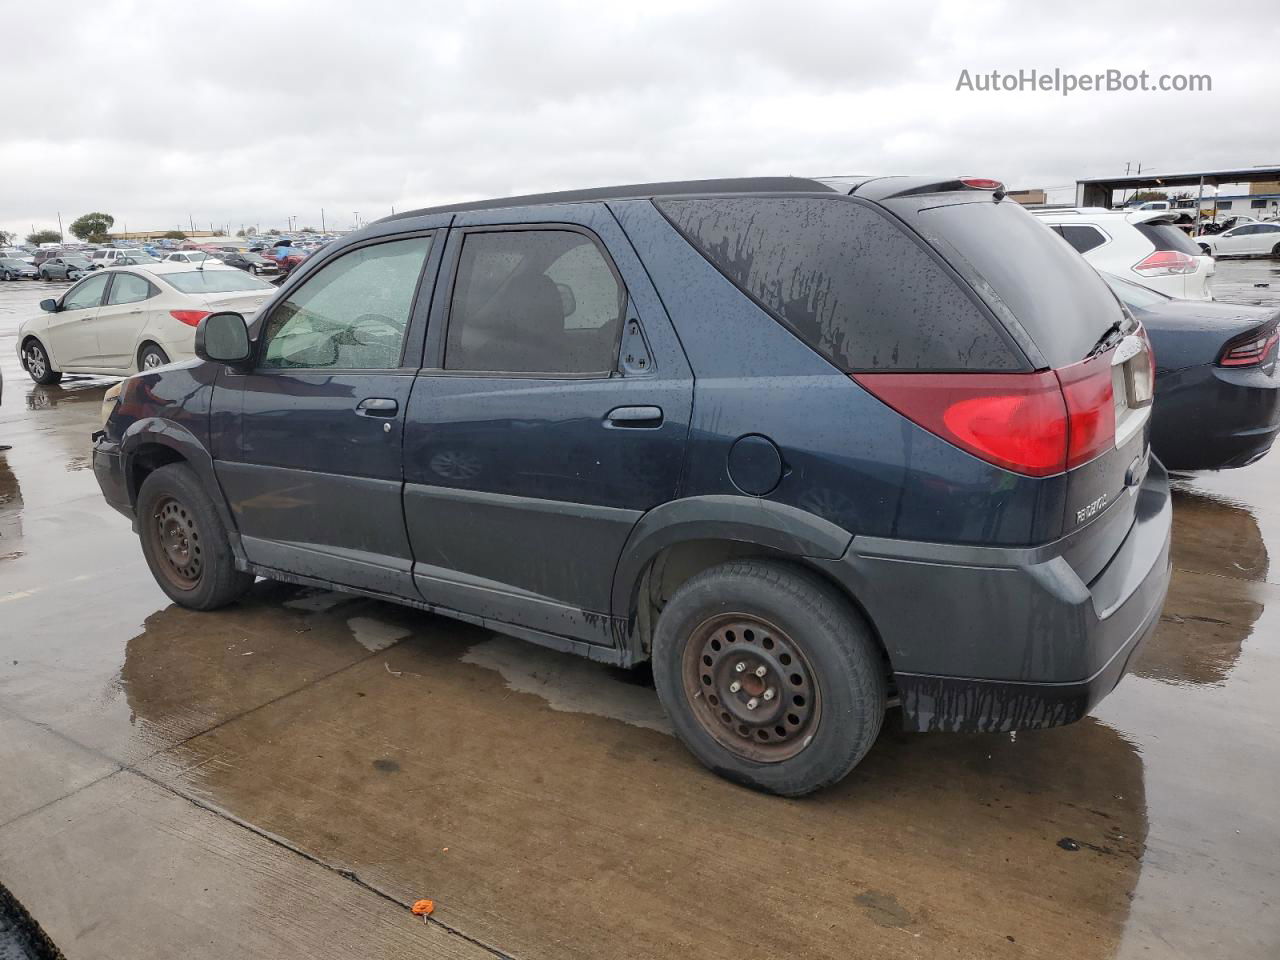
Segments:
[[[41,294],[0,285],[0,883],[68,957],[1280,952],[1280,457],[1176,481],[1164,622],[1092,717],[891,716],[778,800],[643,675],[262,581],[170,604],[87,468],[108,381],[17,367]]]

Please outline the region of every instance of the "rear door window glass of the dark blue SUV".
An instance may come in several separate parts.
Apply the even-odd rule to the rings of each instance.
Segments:
[[[570,230],[468,233],[445,370],[608,375],[626,291],[600,247]]]

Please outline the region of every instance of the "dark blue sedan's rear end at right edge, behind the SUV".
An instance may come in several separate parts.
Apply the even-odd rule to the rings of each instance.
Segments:
[[[1151,337],[1151,448],[1170,470],[1243,467],[1280,433],[1280,311],[1174,300],[1103,274]]]

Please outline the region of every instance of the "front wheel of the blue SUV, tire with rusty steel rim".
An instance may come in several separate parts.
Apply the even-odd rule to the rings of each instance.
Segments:
[[[160,589],[193,611],[234,603],[253,585],[236,570],[227,527],[186,463],[151,472],[138,490],[142,556]]]

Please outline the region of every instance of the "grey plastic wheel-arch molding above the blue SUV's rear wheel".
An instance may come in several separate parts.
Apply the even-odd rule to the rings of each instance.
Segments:
[[[636,522],[613,575],[612,613],[626,621],[644,568],[662,550],[691,540],[736,540],[792,557],[838,559],[854,535],[785,503],[726,494],[686,497],[654,507]]]

